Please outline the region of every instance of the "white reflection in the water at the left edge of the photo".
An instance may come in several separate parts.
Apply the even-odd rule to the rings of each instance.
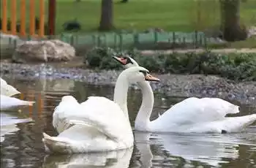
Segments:
[[[1,118],[1,140],[0,142],[4,141],[4,135],[6,134],[15,134],[18,131],[18,127],[16,126],[17,123],[26,123],[32,121],[31,118],[18,118],[15,114],[10,112],[2,112],[0,113]]]

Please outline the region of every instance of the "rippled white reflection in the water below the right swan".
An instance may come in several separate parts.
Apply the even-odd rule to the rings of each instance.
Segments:
[[[157,161],[157,156],[172,158],[170,159],[171,164],[176,163],[173,159],[181,157],[187,163],[190,161],[199,161],[211,167],[220,167],[220,164],[229,162],[222,160],[223,158],[238,158],[238,145],[248,144],[248,142],[243,141],[242,138],[236,137],[235,134],[202,135],[135,132],[135,146],[140,150],[140,167],[152,167],[153,159],[154,164],[161,162]],[[158,145],[158,147],[153,150],[152,147],[154,145]],[[256,146],[253,142],[249,145]],[[167,154],[165,154],[166,152]]]

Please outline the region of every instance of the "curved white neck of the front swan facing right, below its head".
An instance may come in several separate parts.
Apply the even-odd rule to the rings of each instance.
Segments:
[[[121,73],[116,80],[116,86],[114,91],[114,102],[121,107],[124,115],[129,119],[127,109],[127,92],[129,88],[129,80],[125,73]]]

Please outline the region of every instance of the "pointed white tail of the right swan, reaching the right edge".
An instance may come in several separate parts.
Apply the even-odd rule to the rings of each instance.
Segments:
[[[243,131],[247,126],[256,122],[256,114],[245,115],[241,117],[230,117],[227,118],[223,124],[224,131],[227,132],[238,132]]]

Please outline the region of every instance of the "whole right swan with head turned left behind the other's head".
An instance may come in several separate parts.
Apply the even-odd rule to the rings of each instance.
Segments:
[[[113,56],[124,68],[139,66],[129,56]],[[140,110],[135,119],[135,130],[156,132],[230,133],[242,131],[256,121],[256,114],[241,117],[226,117],[236,114],[240,107],[219,98],[190,97],[170,107],[169,110],[150,121],[154,94],[146,81],[138,83],[143,93]]]

